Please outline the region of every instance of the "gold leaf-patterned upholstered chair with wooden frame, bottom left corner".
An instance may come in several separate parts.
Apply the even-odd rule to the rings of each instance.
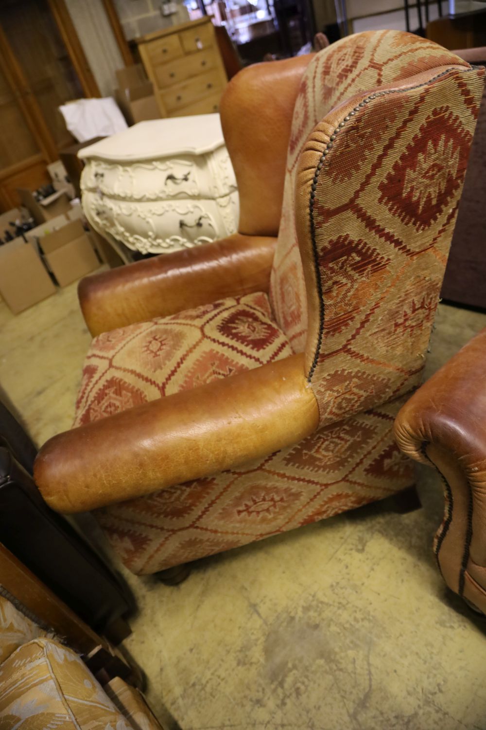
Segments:
[[[117,674],[104,639],[2,545],[0,568],[2,730],[163,730],[144,696]]]

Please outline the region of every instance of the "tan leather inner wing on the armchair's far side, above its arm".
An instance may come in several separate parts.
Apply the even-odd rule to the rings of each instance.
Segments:
[[[223,134],[240,193],[241,234],[278,234],[294,104],[312,58],[307,54],[248,66],[222,96]]]

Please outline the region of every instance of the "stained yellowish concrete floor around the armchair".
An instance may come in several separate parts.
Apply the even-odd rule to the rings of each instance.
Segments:
[[[441,305],[434,372],[486,326]],[[13,317],[0,305],[0,383],[40,445],[70,426],[90,342],[75,286]],[[447,592],[423,509],[379,504],[195,565],[168,588],[124,573],[138,600],[125,645],[147,696],[183,730],[486,730],[486,624]],[[116,562],[116,558],[115,562]]]

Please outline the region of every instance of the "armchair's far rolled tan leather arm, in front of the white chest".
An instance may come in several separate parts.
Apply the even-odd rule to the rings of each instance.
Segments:
[[[275,242],[233,234],[86,277],[78,293],[87,326],[95,337],[227,296],[268,291]]]

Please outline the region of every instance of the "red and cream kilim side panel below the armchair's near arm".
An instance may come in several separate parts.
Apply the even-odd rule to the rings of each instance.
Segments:
[[[97,510],[130,570],[154,573],[383,499],[413,481],[391,428],[404,399],[246,468]]]

